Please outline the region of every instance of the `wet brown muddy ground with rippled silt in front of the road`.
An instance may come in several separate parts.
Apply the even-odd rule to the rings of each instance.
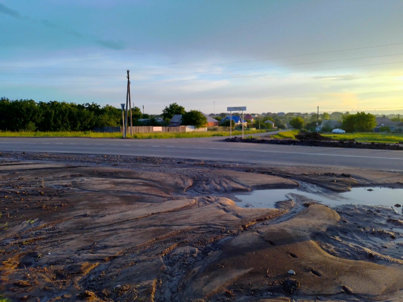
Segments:
[[[301,182],[336,191],[402,188],[403,174],[0,153],[0,295],[11,301],[401,300],[400,211],[329,208],[301,195],[276,209],[243,208],[231,199],[235,192]]]

